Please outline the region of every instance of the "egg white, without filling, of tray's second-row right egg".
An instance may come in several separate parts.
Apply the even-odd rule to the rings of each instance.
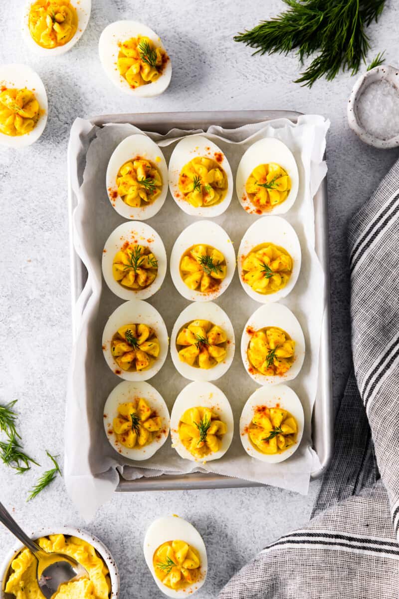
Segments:
[[[243,261],[252,252],[254,247],[260,246],[263,243],[274,243],[275,246],[283,247],[293,259],[293,271],[290,280],[284,288],[279,289],[274,294],[258,294],[244,281]],[[286,297],[294,288],[301,268],[301,246],[295,229],[281,216],[264,216],[255,220],[241,240],[237,265],[240,283],[244,291],[249,297],[255,299],[255,301],[261,304],[268,304],[269,302],[275,302],[280,298]]]

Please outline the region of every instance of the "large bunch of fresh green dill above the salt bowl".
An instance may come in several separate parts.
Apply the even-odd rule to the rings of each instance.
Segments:
[[[323,75],[330,81],[341,68],[352,75],[358,72],[370,48],[364,30],[378,20],[385,0],[283,1],[287,11],[236,35],[234,40],[256,48],[255,54],[296,50],[301,64],[317,53],[295,81],[309,87]]]

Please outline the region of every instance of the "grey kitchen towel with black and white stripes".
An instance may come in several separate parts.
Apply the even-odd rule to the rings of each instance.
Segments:
[[[333,462],[306,528],[219,599],[399,597],[399,161],[349,223],[352,354]]]

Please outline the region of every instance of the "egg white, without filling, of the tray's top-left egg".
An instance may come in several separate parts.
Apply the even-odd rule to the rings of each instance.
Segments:
[[[159,170],[162,177],[162,191],[160,195],[151,204],[142,204],[139,207],[125,204],[118,194],[117,174],[123,165],[140,156],[153,163]],[[167,195],[167,166],[165,156],[157,144],[151,140],[148,135],[135,134],[129,135],[115,148],[106,169],[106,190],[109,201],[118,214],[125,219],[147,220],[155,216],[162,208]]]

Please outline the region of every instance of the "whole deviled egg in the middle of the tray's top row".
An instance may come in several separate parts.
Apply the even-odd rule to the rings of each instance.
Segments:
[[[187,135],[170,156],[169,189],[187,214],[219,216],[232,199],[232,169],[213,141],[203,135]]]

